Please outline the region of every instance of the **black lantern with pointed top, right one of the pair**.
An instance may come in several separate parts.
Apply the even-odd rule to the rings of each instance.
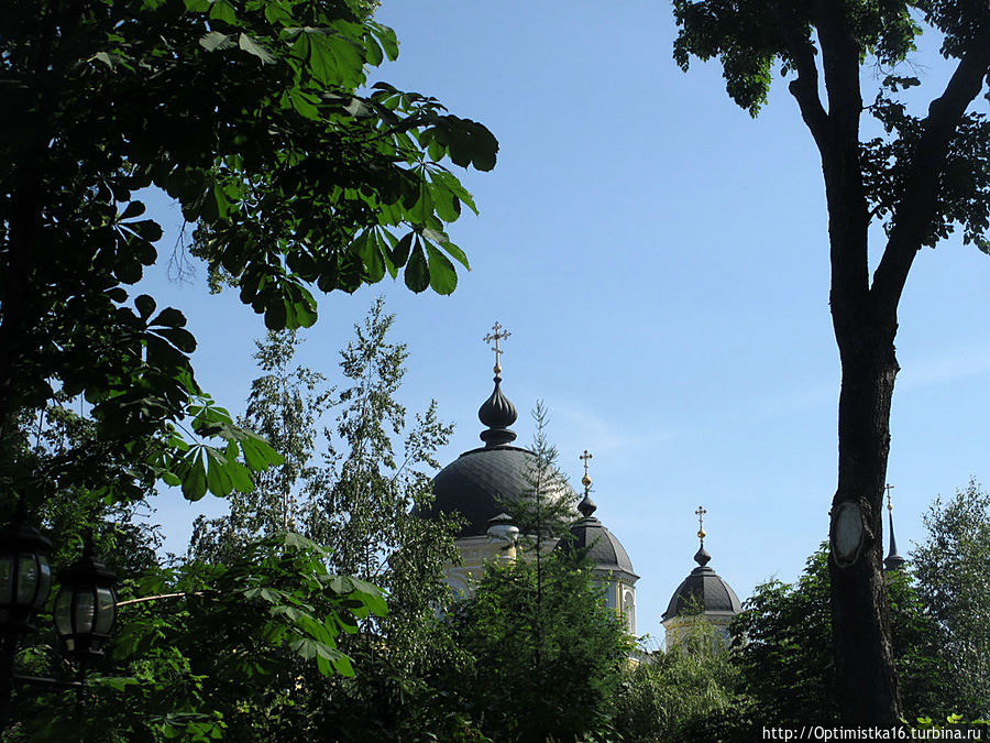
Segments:
[[[87,539],[82,557],[65,571],[55,597],[55,633],[67,655],[95,658],[117,620],[117,576],[92,554]]]

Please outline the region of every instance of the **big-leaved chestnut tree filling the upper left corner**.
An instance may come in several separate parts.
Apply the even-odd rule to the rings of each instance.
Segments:
[[[53,482],[133,500],[161,479],[198,499],[250,491],[278,460],[196,383],[182,313],[129,296],[158,260],[144,188],[178,201],[194,252],[272,329],[316,321],[314,286],[403,272],[414,292],[453,291],[452,260],[468,260],[446,225],[474,204],[440,161],[490,170],[497,143],[433,98],[365,87],[398,48],[370,4],[7,3],[0,487],[35,503]],[[81,451],[57,472],[20,456],[22,412],[56,394],[85,396],[131,478]]]

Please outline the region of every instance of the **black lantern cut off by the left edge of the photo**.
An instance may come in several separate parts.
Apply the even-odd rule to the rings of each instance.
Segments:
[[[0,532],[0,632],[33,632],[52,591],[52,543],[23,520]]]

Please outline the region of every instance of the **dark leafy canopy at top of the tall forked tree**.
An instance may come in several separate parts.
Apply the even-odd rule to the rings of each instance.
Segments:
[[[820,145],[827,129],[824,119],[839,121],[844,109],[850,109],[857,122],[860,109],[877,120],[883,134],[861,142],[859,166],[870,216],[883,219],[888,232],[895,221],[897,206],[920,168],[919,147],[933,147],[924,138],[942,125],[936,120],[942,114],[939,103],[948,108],[955,102],[950,99],[963,95],[950,84],[935,99],[928,117],[909,111],[903,94],[922,84],[916,67],[910,64],[919,35],[925,29],[941,34],[943,56],[958,65],[957,87],[961,88],[963,81],[959,73],[969,73],[975,79],[972,97],[987,75],[990,8],[982,0],[674,0],[673,7],[681,28],[674,43],[675,62],[686,70],[692,56],[717,58],[726,91],[751,116],[767,103],[777,69],[790,79],[790,90]],[[843,45],[851,45],[848,54],[860,65],[871,64],[880,73],[871,105],[862,106],[858,80],[850,81],[848,70],[839,69]],[[827,112],[817,103],[820,67],[827,87]],[[990,252],[986,237],[990,218],[990,121],[986,108],[959,111],[933,194],[935,217],[921,229],[920,244],[934,247],[961,226],[965,242]]]

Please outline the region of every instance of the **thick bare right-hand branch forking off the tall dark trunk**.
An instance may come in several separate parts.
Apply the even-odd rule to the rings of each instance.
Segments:
[[[908,272],[922,239],[935,218],[938,178],[948,146],[966,109],[990,74],[990,30],[977,36],[959,59],[945,91],[932,101],[917,140],[911,175],[894,217],[883,256],[873,274],[871,299],[879,310],[893,314],[908,281]]]

